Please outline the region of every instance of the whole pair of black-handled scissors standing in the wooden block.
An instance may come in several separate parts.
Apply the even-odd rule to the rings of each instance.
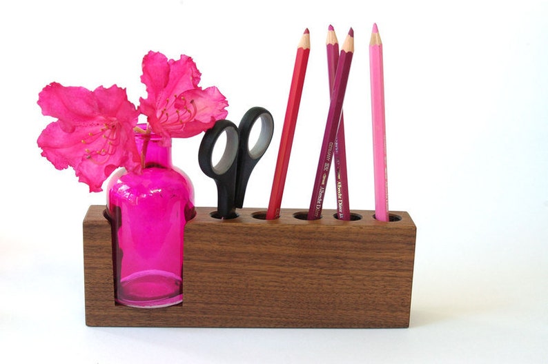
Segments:
[[[261,132],[255,145],[249,145],[249,136],[255,121],[261,119]],[[251,108],[244,114],[239,126],[228,120],[219,120],[206,131],[199,146],[198,162],[204,173],[217,184],[217,219],[233,219],[236,208],[242,208],[247,182],[253,168],[270,145],[274,120],[268,110]],[[224,153],[213,165],[213,150],[217,139],[226,133]]]

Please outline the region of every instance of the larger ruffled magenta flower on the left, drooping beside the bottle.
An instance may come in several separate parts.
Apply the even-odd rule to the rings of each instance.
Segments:
[[[58,170],[75,169],[90,192],[119,167],[141,168],[133,128],[139,112],[128,101],[126,90],[112,85],[94,91],[50,83],[39,94],[42,114],[58,120],[38,138],[38,145]]]

